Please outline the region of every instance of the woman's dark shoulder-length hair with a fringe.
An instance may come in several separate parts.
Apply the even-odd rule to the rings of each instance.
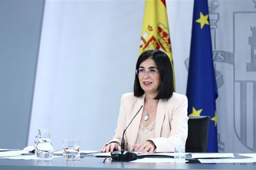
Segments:
[[[173,68],[171,67],[171,62],[167,54],[165,54],[161,50],[147,50],[142,53],[136,64],[136,69],[139,68],[142,62],[146,59],[152,59],[156,63],[156,66],[160,72],[160,84],[159,84],[159,92],[156,95],[155,99],[169,99],[174,92],[174,84],[173,84]],[[134,87],[133,87],[134,96],[142,96],[144,94],[141,85],[139,84],[138,75],[135,74],[134,79]]]

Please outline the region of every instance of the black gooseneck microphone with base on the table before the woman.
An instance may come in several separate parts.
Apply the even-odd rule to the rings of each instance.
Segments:
[[[141,107],[139,107],[139,110],[137,111],[136,115],[133,117],[133,119],[138,115],[139,111],[141,111],[141,108],[143,107],[143,105],[141,105]],[[133,153],[133,152],[129,152],[127,150],[125,150],[125,141],[124,141],[124,133],[127,130],[127,128],[129,127],[129,125],[131,125],[133,119],[131,120],[131,122],[128,124],[128,126],[124,129],[123,132],[123,137],[121,140],[121,150],[117,150],[114,152],[111,152],[111,157],[112,160],[114,161],[119,161],[119,162],[129,162],[132,160],[136,160],[137,159],[137,154]]]

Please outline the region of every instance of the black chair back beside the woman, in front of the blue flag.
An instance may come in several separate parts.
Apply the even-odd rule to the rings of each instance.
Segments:
[[[186,152],[207,152],[209,116],[189,117]]]

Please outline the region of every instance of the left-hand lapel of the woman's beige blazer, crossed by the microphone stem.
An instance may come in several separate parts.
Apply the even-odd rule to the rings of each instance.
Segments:
[[[138,115],[134,118],[133,122],[131,123],[130,125],[131,127],[129,127],[130,129],[128,128],[129,138],[131,138],[131,145],[134,145],[137,140],[139,125],[141,124],[141,116],[144,109],[144,99],[145,99],[145,95],[139,97],[134,105],[134,110],[133,110],[134,114],[132,114],[133,116],[137,113],[139,107],[141,107],[142,105],[143,107],[141,108]],[[130,120],[132,120],[133,116],[131,117]]]

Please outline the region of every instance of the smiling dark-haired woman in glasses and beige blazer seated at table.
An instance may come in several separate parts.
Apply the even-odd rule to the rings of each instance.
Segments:
[[[136,64],[134,92],[121,99],[115,136],[101,152],[120,150],[123,131],[125,149],[135,152],[174,152],[185,146],[188,135],[188,100],[174,92],[173,71],[169,57],[160,50],[142,53]]]

